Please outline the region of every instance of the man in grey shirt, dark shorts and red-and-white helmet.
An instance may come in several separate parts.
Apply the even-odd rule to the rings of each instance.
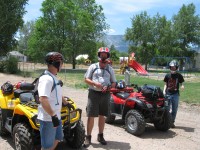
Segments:
[[[111,65],[109,65],[110,51],[107,47],[98,50],[99,62],[92,64],[85,73],[85,82],[89,85],[87,112],[87,135],[84,146],[91,144],[91,134],[94,126],[94,118],[99,118],[99,134],[97,140],[106,145],[103,131],[105,126],[105,116],[108,115],[110,92],[108,86],[116,86],[116,78]]]

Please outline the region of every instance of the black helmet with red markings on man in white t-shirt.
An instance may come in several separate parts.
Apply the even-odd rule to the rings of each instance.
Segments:
[[[58,52],[49,52],[45,57],[45,62],[49,65],[53,65],[59,70],[60,63],[63,63],[64,57]]]

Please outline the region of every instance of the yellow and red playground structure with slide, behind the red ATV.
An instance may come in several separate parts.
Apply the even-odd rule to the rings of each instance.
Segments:
[[[124,74],[129,67],[134,69],[139,75],[148,75],[148,72],[140,63],[135,60],[134,53],[130,57],[120,57],[120,74]]]

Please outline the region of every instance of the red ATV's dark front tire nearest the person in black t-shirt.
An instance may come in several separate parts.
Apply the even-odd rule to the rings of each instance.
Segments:
[[[171,128],[172,117],[169,111],[165,110],[163,118],[154,122],[154,127],[160,131],[167,131]]]

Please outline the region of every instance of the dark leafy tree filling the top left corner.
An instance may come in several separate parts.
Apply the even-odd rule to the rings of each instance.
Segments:
[[[6,54],[16,46],[15,34],[18,28],[23,25],[22,17],[25,14],[27,1],[0,1],[0,55]]]

